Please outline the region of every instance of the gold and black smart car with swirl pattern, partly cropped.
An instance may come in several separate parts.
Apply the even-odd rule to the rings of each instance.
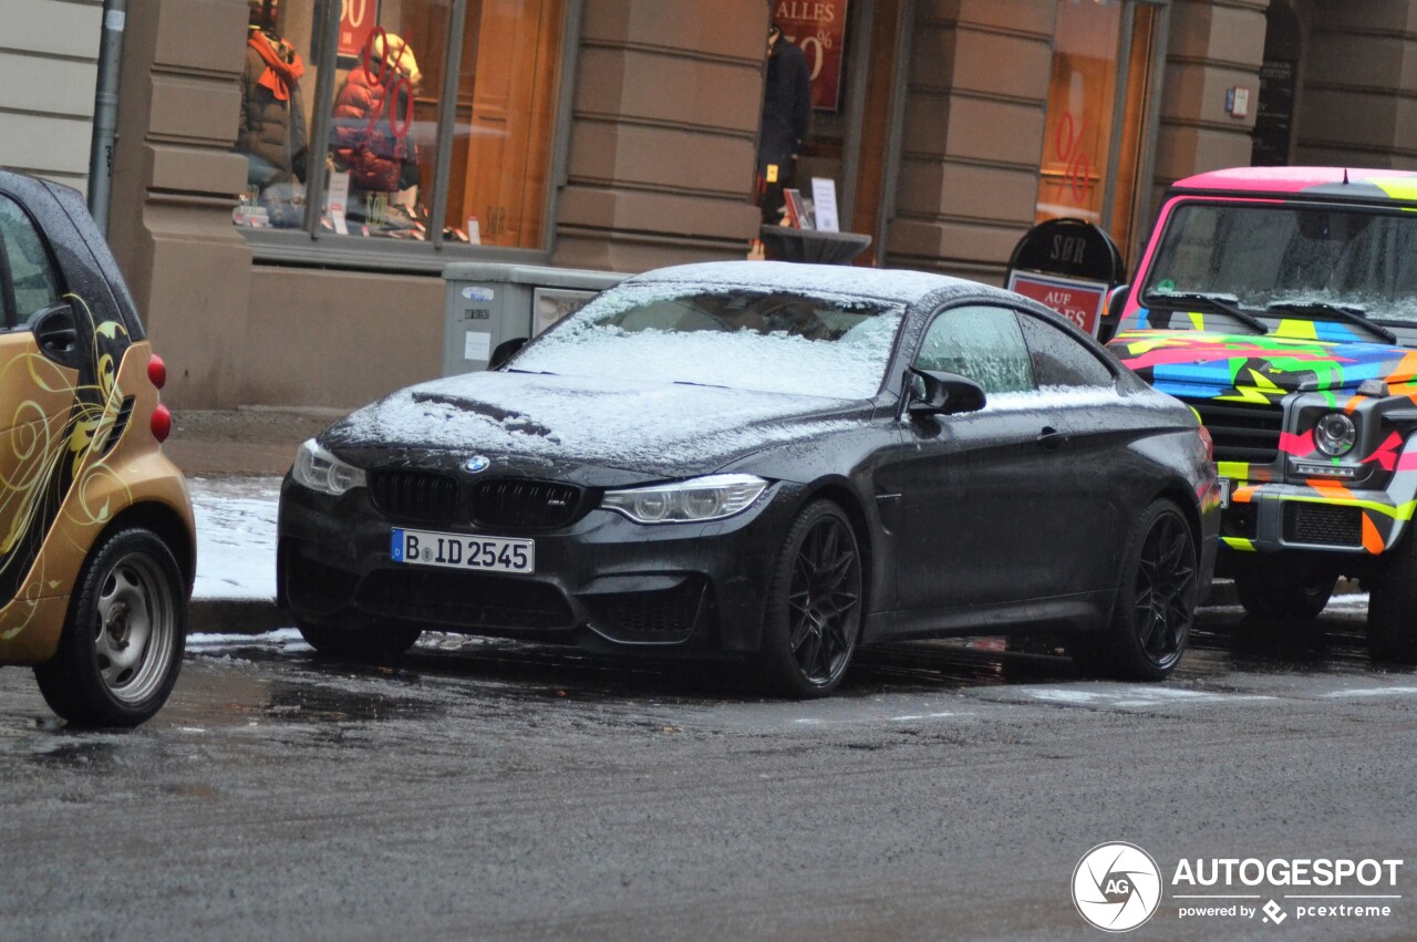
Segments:
[[[166,367],[77,191],[0,173],[0,664],[136,725],[181,667],[196,540]]]

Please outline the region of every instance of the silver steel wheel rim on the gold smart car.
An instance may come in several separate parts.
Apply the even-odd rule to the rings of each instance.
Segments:
[[[171,586],[156,560],[130,552],[103,575],[96,608],[98,676],[115,698],[142,703],[171,666],[177,630]]]

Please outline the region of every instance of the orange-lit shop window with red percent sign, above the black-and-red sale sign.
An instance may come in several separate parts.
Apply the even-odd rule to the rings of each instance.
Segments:
[[[1037,221],[1081,218],[1131,242],[1162,10],[1148,0],[1058,0]]]

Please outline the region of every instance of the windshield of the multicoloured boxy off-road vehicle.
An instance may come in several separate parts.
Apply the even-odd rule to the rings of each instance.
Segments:
[[[1254,203],[1180,205],[1170,214],[1141,303],[1166,305],[1176,293],[1213,295],[1261,313],[1274,305],[1329,305],[1417,324],[1417,215]]]

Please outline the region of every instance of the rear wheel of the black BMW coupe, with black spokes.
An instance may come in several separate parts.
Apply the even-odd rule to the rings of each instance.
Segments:
[[[1152,501],[1127,543],[1112,620],[1074,642],[1087,673],[1165,680],[1186,653],[1196,613],[1196,540],[1175,501]]]

